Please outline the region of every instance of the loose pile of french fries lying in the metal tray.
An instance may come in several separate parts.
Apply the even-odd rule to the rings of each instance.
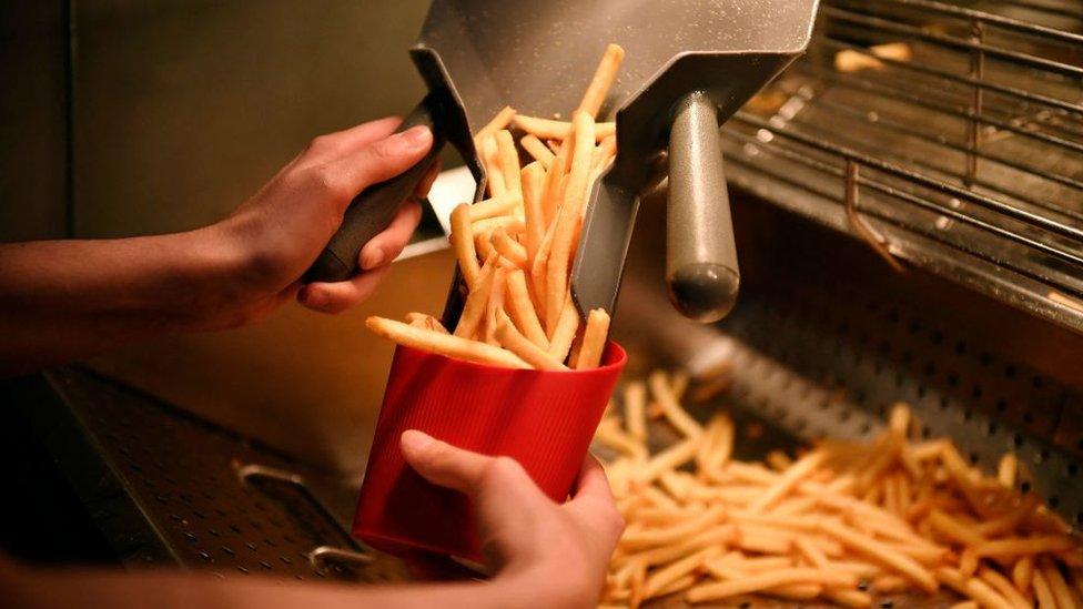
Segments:
[[[1012,454],[982,475],[950,439],[910,440],[895,405],[871,444],[823,440],[796,459],[735,460],[735,424],[700,425],[682,408],[682,374],[650,374],[623,392],[595,437],[627,529],[601,602],[638,607],[766,595],[870,607],[878,596],[947,588],[958,608],[1074,608],[1083,541],[1015,488]],[[652,398],[652,403],[648,399]],[[616,408],[613,408],[616,410]],[[656,417],[680,439],[648,450]],[[656,434],[657,435],[657,434]]]

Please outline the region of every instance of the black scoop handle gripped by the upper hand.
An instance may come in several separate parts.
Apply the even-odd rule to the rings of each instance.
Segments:
[[[398,132],[419,124],[433,131],[433,149],[403,173],[368,186],[350,203],[342,225],[301,278],[304,283],[341,282],[357,272],[357,256],[368,241],[391,224],[395,212],[414,192],[444,148],[445,135],[438,122],[444,111],[436,93],[429,93],[403,121]]]

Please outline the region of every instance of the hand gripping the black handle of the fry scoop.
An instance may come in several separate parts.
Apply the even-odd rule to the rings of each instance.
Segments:
[[[428,192],[434,166],[414,200],[361,251],[362,270],[350,281],[302,286],[301,275],[342,223],[350,202],[370,185],[417,163],[433,144],[424,126],[393,134],[387,118],[321,135],[229,219],[204,230],[213,247],[231,258],[227,286],[206,316],[209,327],[260,317],[296,295],[304,306],[338,313],[368,297],[402,252],[421,220],[416,199]]]

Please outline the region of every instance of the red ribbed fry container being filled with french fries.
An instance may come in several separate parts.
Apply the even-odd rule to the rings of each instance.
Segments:
[[[465,495],[406,465],[399,438],[419,429],[459,448],[517,460],[554,501],[575,483],[620,376],[625,351],[609,343],[593,371],[499,368],[399,346],[395,351],[353,534],[383,551],[416,550],[480,561]]]

